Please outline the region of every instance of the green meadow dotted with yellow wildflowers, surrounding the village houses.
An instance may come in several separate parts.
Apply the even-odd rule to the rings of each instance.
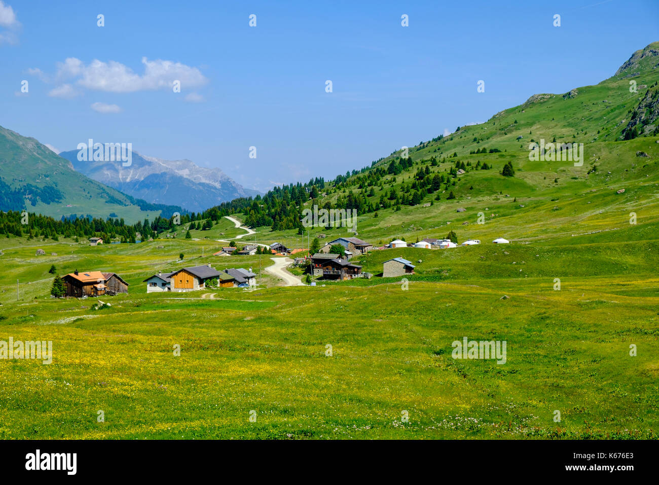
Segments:
[[[658,245],[644,231],[621,233],[624,251],[601,232],[364,257],[373,273],[389,257],[415,261],[407,289],[378,277],[281,288],[269,276],[254,291],[187,294],[146,294],[141,281],[258,257],[209,258],[222,243],[178,238],[3,240],[5,273],[25,283],[16,302],[15,281],[0,282],[0,340],[51,340],[53,363],[0,360],[0,437],[655,438]],[[92,298],[53,300],[51,264],[113,269],[129,294],[96,311]],[[463,337],[505,340],[507,362],[453,359]]]

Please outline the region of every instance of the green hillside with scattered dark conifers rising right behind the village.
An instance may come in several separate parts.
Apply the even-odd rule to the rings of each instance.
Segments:
[[[448,137],[409,148],[409,158],[399,150],[347,177],[319,185],[320,196],[299,203],[298,213],[314,204],[328,209],[356,207],[359,237],[378,245],[395,237],[411,242],[443,238],[449,230],[457,233],[460,242],[500,236],[556,242],[607,230],[616,231],[609,235],[616,240],[648,237],[648,228],[656,230],[659,221],[658,48],[659,43],[653,43],[638,51],[614,77],[599,84],[532,96],[486,123],[459,127]],[[630,92],[630,81],[636,82],[637,92]],[[530,160],[529,145],[541,140],[583,144],[583,165]],[[507,163],[512,164],[513,177],[501,174]],[[490,169],[481,170],[484,165]],[[455,174],[458,166],[465,174]],[[442,178],[439,184],[434,183],[436,176]],[[618,194],[621,189],[624,192]],[[285,186],[283,195],[273,197],[295,199],[293,191],[295,187]],[[272,206],[267,197],[256,199],[236,211],[239,218],[258,219],[255,204]],[[479,212],[484,224],[476,224]],[[631,212],[637,214],[634,227],[629,224]],[[272,231],[270,226],[256,230],[245,240],[299,240],[302,232],[298,228]],[[308,230],[304,228],[305,236]],[[645,232],[641,236],[638,231]],[[310,232],[312,237],[353,235],[345,228]]]

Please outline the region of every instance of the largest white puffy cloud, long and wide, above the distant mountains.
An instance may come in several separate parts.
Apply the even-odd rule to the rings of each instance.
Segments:
[[[146,90],[171,89],[174,81],[181,83],[181,89],[196,88],[208,82],[199,69],[173,61],[157,59],[149,61],[142,57],[144,73],[138,75],[127,65],[117,61],[94,59],[85,65],[80,59],[69,57],[57,63],[55,77],[59,80],[76,79],[75,83],[84,88],[104,92],[136,92]]]

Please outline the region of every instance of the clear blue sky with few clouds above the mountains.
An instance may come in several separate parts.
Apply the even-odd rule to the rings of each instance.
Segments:
[[[0,125],[59,150],[132,143],[260,190],[596,84],[659,40],[657,1],[63,3],[0,1]]]

